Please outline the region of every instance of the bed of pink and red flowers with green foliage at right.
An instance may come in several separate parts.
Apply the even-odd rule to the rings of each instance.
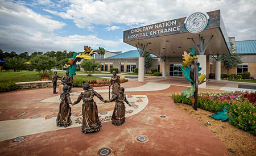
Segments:
[[[190,99],[172,94],[175,103],[191,105]],[[256,92],[205,92],[199,93],[198,107],[216,113],[227,109],[231,124],[256,136]]]

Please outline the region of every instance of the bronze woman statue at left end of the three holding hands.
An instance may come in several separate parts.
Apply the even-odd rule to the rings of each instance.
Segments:
[[[60,108],[57,115],[56,124],[57,127],[68,127],[71,125],[71,99],[68,93],[68,86],[63,86],[63,92],[60,94]]]

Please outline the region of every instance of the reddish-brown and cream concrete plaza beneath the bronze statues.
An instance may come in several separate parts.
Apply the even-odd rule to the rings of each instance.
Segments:
[[[126,105],[126,121],[119,127],[110,122],[114,103],[104,104],[94,98],[102,128],[91,134],[81,132],[81,103],[72,107],[71,127],[56,127],[59,96],[52,94],[52,88],[0,94],[0,154],[97,155],[108,148],[110,155],[228,155],[214,133],[175,106],[171,93],[187,88],[187,84],[174,84],[182,79],[145,80],[130,79],[121,84],[131,107]],[[211,83],[208,85],[222,86]],[[108,86],[95,90],[108,99]],[[75,100],[81,91],[74,88],[71,99]],[[220,90],[209,86],[199,91]],[[14,142],[20,136],[25,139]],[[146,137],[146,141],[138,141],[139,136]]]

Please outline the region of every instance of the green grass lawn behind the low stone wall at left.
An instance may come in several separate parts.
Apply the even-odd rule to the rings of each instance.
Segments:
[[[57,71],[59,76],[62,76],[65,74],[64,71]],[[52,72],[53,74],[53,72]],[[52,74],[50,75],[50,79],[52,77]],[[84,78],[86,80],[92,81],[95,79],[104,79],[100,77],[88,77],[85,75],[76,75],[74,79],[76,78]],[[40,81],[41,77],[39,76],[39,73],[36,71],[2,71],[0,72],[0,83],[3,82],[29,82],[29,81]]]

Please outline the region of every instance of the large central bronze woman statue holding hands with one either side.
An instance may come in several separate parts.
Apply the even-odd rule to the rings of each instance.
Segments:
[[[97,132],[101,128],[101,121],[98,118],[98,108],[94,102],[94,96],[97,96],[102,102],[107,102],[100,94],[93,90],[88,83],[82,82],[84,92],[81,92],[77,100],[72,104],[75,105],[81,100],[82,104],[82,132]]]

